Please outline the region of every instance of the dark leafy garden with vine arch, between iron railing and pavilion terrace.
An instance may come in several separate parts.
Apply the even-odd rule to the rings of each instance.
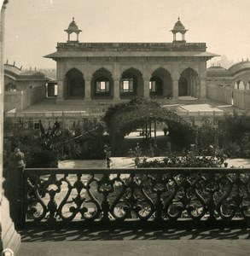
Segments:
[[[139,158],[144,167],[222,166],[226,158],[250,158],[247,112],[225,113],[195,126],[158,102],[134,98],[111,105],[102,121],[74,130],[54,125],[44,131],[41,122],[39,130],[26,130],[5,120],[4,163],[8,165],[14,148],[25,154],[26,167],[44,168],[57,167],[61,160],[104,160],[105,147],[110,148],[110,156]],[[137,137],[130,137],[132,132]],[[146,158],[153,156],[165,159],[149,163]]]

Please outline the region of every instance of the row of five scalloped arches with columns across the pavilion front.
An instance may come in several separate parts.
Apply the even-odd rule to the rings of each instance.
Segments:
[[[200,96],[200,78],[191,67],[185,68],[178,79],[172,79],[172,73],[163,67],[156,68],[147,78],[134,67],[126,68],[117,77],[115,79],[113,73],[104,67],[96,69],[91,75],[73,67],[65,73],[62,86],[58,87],[58,96],[64,100]]]

